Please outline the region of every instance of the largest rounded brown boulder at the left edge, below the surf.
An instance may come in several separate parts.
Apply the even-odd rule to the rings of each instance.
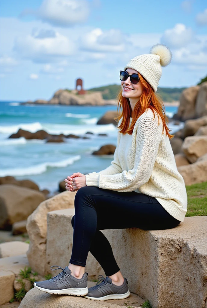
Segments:
[[[0,185],[0,229],[11,229],[14,222],[25,220],[44,200],[44,194],[34,189]]]

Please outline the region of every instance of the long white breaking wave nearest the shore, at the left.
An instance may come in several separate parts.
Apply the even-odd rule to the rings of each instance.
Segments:
[[[68,165],[73,164],[76,160],[80,160],[81,156],[76,155],[66,160],[60,160],[57,162],[46,162],[43,164],[38,164],[26,168],[13,168],[13,169],[5,169],[0,171],[0,176],[29,176],[42,174],[47,171],[47,168],[64,168]]]

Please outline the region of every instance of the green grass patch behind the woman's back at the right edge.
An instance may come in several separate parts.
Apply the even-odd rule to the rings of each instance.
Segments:
[[[207,215],[207,182],[186,186],[188,211],[186,217]]]

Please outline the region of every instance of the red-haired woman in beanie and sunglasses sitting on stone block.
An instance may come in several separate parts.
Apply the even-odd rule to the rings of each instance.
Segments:
[[[162,44],[150,54],[130,60],[120,71],[122,112],[114,160],[89,174],[73,173],[65,179],[75,195],[72,217],[73,248],[68,267],[54,278],[34,285],[54,294],[85,295],[93,300],[122,299],[130,295],[127,279],[100,231],[136,227],[144,230],[174,228],[187,211],[185,183],[177,171],[167,117],[155,95],[161,66],[172,59]],[[121,244],[121,243],[120,243]],[[88,252],[100,263],[106,277],[87,289],[84,272]],[[127,256],[126,256],[127,258]],[[60,268],[60,267],[59,267]]]

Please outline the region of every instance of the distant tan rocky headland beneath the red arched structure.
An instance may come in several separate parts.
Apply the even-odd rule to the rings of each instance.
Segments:
[[[34,104],[60,104],[60,105],[106,105],[107,100],[103,99],[101,92],[93,92],[84,95],[76,95],[67,90],[58,90],[53,97],[49,100],[38,99],[34,102],[28,101],[27,103]],[[111,104],[111,103],[110,103]]]

